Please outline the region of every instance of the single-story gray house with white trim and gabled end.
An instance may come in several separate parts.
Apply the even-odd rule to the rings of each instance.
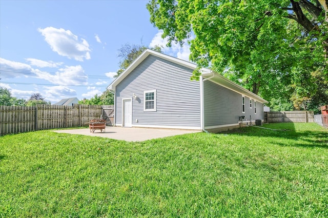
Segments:
[[[145,50],[115,81],[114,125],[218,132],[263,120],[258,95],[207,68],[192,81],[197,65]]]

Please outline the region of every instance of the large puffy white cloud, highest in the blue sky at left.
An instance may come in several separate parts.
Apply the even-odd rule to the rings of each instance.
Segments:
[[[38,31],[45,36],[51,49],[59,55],[81,62],[91,58],[88,42],[84,38],[79,39],[70,30],[47,27],[45,29],[38,28]]]

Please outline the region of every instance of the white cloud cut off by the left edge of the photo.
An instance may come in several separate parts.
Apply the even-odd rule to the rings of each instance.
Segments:
[[[31,76],[34,74],[33,68],[24,63],[13,62],[0,57],[1,77],[15,78],[21,76]]]

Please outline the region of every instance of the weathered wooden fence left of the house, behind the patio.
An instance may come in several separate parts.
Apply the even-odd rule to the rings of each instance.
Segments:
[[[0,106],[0,135],[44,129],[86,126],[90,120],[104,116],[112,106],[101,105],[37,105],[33,107]],[[106,117],[108,124],[114,116]]]

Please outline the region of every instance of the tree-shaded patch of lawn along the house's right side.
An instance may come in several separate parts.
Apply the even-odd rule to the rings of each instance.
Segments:
[[[309,125],[309,127],[306,128],[306,124],[302,126],[303,128],[296,130],[293,123],[268,124],[263,127],[268,129],[249,126],[223,132],[223,134],[281,138],[288,141],[275,141],[271,143],[280,146],[318,147],[328,149],[328,131],[311,130],[312,126]],[[275,130],[270,130],[269,128]],[[291,143],[290,140],[294,142]]]

